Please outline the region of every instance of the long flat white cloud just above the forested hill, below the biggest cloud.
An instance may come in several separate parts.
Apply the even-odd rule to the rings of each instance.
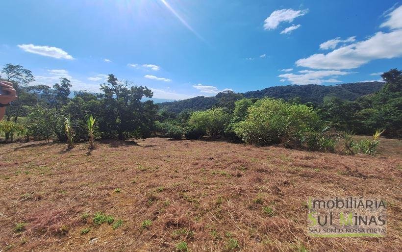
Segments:
[[[322,70],[322,71],[312,71],[312,70],[302,70],[298,72],[299,74],[282,74],[279,75],[282,79],[280,81],[288,80],[292,84],[306,85],[306,84],[322,84],[322,83],[336,83],[342,82],[338,80],[338,76],[344,76],[351,74],[351,72],[335,71],[335,70]]]

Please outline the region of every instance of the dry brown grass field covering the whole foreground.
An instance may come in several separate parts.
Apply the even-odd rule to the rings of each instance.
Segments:
[[[0,145],[0,251],[174,251],[180,241],[227,251],[229,239],[243,251],[401,251],[401,141],[382,144],[376,157],[163,138],[97,143],[90,153]],[[306,201],[315,196],[382,198],[386,237],[309,237]],[[123,226],[94,225],[98,211]]]

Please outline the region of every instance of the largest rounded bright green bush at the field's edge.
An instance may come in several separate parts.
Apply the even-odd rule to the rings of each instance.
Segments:
[[[319,121],[311,107],[282,100],[262,99],[248,109],[248,117],[234,131],[248,144],[258,146],[300,141]]]

